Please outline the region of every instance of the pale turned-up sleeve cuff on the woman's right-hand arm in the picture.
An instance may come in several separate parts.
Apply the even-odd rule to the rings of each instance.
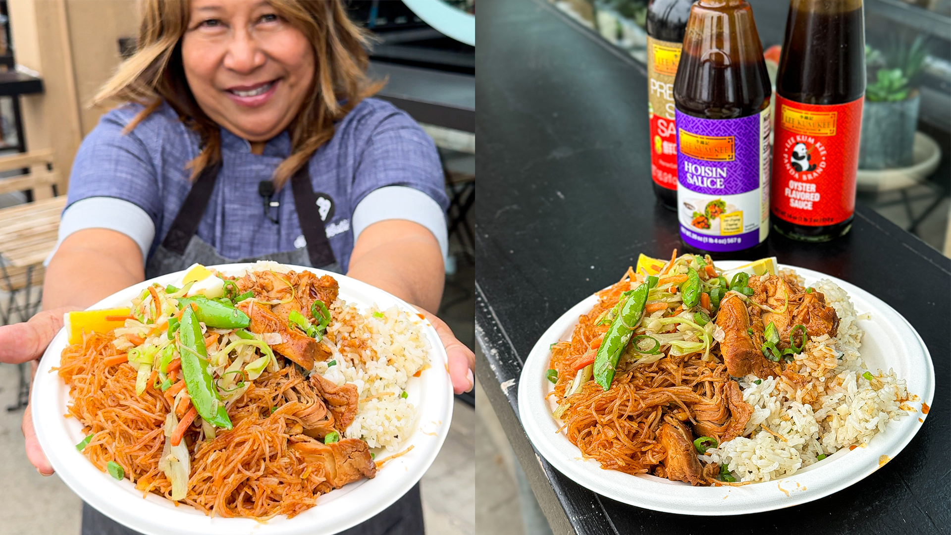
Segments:
[[[405,219],[428,228],[439,243],[442,259],[446,259],[449,253],[446,215],[432,197],[405,186],[374,189],[354,209],[354,242],[365,228],[387,219]]]

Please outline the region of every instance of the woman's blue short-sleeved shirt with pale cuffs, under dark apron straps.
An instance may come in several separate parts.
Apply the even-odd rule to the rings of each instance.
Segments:
[[[108,222],[110,216],[101,213],[122,200],[141,208],[154,226],[151,244],[142,243],[147,241],[142,232],[126,231],[140,242],[144,255],[162,243],[191,187],[185,166],[198,155],[199,137],[167,105],[131,132],[122,133],[141,109],[126,105],[107,112],[83,141],[69,179],[61,241],[81,228],[126,231],[125,227],[134,227],[132,216]],[[274,169],[290,155],[288,133],[268,141],[262,155],[250,149],[246,140],[222,129],[223,168],[198,227],[198,235],[228,258],[261,256],[305,243],[290,182],[274,195],[273,200],[281,204],[271,208],[277,224],[266,217],[258,194],[259,183],[270,180]],[[448,199],[437,149],[404,111],[378,99],[363,100],[335,125],[333,138],[317,150],[308,166],[327,237],[344,272],[355,241],[354,211],[375,191],[370,197],[374,202],[367,199],[360,207],[358,232],[382,219],[408,219],[430,228],[445,248],[445,220],[439,216],[448,207]],[[96,204],[94,198],[112,204]],[[427,208],[430,199],[433,202]],[[83,203],[75,205],[79,201]],[[76,213],[69,217],[74,205]],[[436,208],[439,221],[433,217]],[[103,221],[93,221],[99,219]],[[147,226],[146,217],[140,219]]]

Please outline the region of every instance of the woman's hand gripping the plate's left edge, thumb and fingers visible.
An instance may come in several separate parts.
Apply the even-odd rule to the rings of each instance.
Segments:
[[[0,363],[20,364],[33,361],[30,377],[36,372],[37,359],[43,356],[53,336],[63,327],[63,314],[76,307],[61,307],[39,312],[29,322],[0,327]],[[40,449],[33,431],[29,406],[23,413],[23,436],[27,440],[27,458],[36,470],[45,476],[52,475],[47,456]]]

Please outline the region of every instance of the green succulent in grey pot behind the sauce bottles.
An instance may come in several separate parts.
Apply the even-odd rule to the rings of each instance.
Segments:
[[[862,109],[859,168],[912,165],[921,102],[918,80],[927,55],[922,36],[910,46],[894,42],[885,53],[865,47],[868,81]]]

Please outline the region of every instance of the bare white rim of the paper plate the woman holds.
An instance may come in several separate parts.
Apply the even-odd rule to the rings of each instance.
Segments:
[[[212,266],[225,274],[237,274],[250,264]],[[413,450],[381,467],[372,480],[345,485],[318,498],[317,505],[292,519],[275,517],[267,522],[246,518],[211,518],[190,505],[175,505],[161,496],[142,491],[127,479],[117,481],[99,471],[76,450],[83,440],[82,426],[74,418],[66,418],[68,387],[50,368],[59,366],[60,354],[67,346],[64,330],[53,339],[43,355],[30,393],[33,426],[49,463],[69,488],[87,504],[108,517],[146,535],[329,535],[357,525],[398,500],[416,485],[436,458],[449,431],[453,416],[453,386],[446,373],[446,351],[439,343],[436,329],[423,320],[405,302],[389,293],[337,273],[315,268],[290,266],[297,271],[308,270],[317,275],[329,274],[340,283],[340,298],[364,310],[373,304],[381,308],[394,305],[410,311],[415,320],[425,324],[423,332],[433,347],[429,369],[407,385],[409,401],[417,407],[416,430],[401,446]],[[90,308],[127,306],[139,292],[153,282],[162,285],[181,281],[184,271],[156,277],[150,281],[116,292]],[[383,453],[381,455],[389,455]]]

